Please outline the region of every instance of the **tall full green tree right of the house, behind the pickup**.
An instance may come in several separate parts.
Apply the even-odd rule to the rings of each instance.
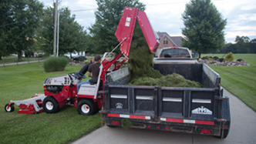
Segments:
[[[191,0],[182,14],[185,36],[181,45],[200,54],[224,47],[224,28],[227,19],[213,5],[211,0]]]

